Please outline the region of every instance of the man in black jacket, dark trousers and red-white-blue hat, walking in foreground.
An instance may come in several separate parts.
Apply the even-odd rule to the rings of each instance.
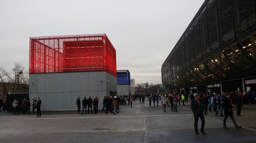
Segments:
[[[206,135],[205,131],[204,131],[204,124],[205,124],[205,119],[203,116],[203,103],[200,100],[200,94],[196,94],[195,95],[195,100],[191,101],[191,110],[194,113],[194,118],[195,118],[195,131],[196,134],[200,134],[198,133],[198,129],[197,129],[197,124],[198,124],[198,119],[200,117],[201,121],[202,121],[202,125],[201,125],[201,133],[203,133],[204,135]]]

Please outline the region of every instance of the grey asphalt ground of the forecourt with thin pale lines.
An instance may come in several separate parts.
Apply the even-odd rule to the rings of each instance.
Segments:
[[[96,115],[78,115],[77,110],[42,111],[41,117],[35,117],[37,113],[0,112],[0,142],[256,142],[256,104],[243,105],[242,116],[234,114],[241,129],[235,129],[230,117],[228,129],[224,129],[224,117],[209,112],[205,116],[207,135],[196,135],[190,100],[178,105],[178,112],[169,106],[163,112],[161,101],[159,106],[153,106],[153,101],[149,106],[148,99],[144,104],[137,101],[133,107],[120,105],[116,115],[101,110]],[[199,119],[199,131],[200,127]]]

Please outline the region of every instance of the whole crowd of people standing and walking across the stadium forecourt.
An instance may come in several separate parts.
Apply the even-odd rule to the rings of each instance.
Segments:
[[[256,99],[256,93],[255,92],[229,92],[229,93],[191,93],[190,95],[187,95],[186,93],[155,93],[155,94],[135,94],[135,95],[116,95],[116,96],[104,96],[103,99],[103,108],[102,111],[106,114],[108,114],[108,111],[113,113],[115,115],[116,113],[118,114],[119,110],[119,105],[120,104],[127,104],[132,107],[133,102],[139,102],[145,103],[145,98],[149,100],[149,106],[153,104],[152,106],[158,106],[159,102],[161,101],[161,104],[163,106],[163,111],[166,112],[166,105],[171,106],[171,111],[177,112],[177,106],[178,105],[184,105],[184,102],[188,102],[188,97],[190,97],[191,103],[190,107],[192,112],[194,113],[194,119],[195,119],[195,133],[198,133],[197,129],[197,124],[198,124],[198,119],[200,118],[202,121],[201,125],[201,133],[206,134],[204,131],[204,124],[205,124],[205,119],[204,115],[207,116],[209,112],[213,111],[215,112],[215,116],[218,116],[218,114],[221,117],[224,117],[223,119],[223,128],[228,129],[226,126],[226,120],[228,116],[233,121],[233,124],[235,125],[236,129],[241,128],[241,126],[236,124],[236,121],[233,116],[233,105],[236,106],[236,115],[241,116],[241,109],[243,104],[255,104],[255,99]],[[126,102],[127,101],[127,102]],[[41,100],[38,97],[37,100],[34,97],[31,101],[32,103],[32,112],[34,113],[34,110],[37,109],[38,115],[36,117],[41,116]],[[30,99],[26,100],[23,99],[22,101],[22,111],[24,114],[27,112],[30,114],[30,107],[31,107]],[[14,100],[12,103],[13,106],[13,113],[16,114],[16,111],[19,113],[19,102],[18,100]],[[6,99],[0,99],[0,111],[5,111],[6,109]],[[78,114],[80,114],[81,110],[81,100],[80,96],[78,96],[77,99],[77,106],[78,106]],[[99,106],[99,99],[97,97],[93,97],[93,99],[89,96],[87,99],[84,97],[82,100],[82,112],[81,114],[89,114],[90,109],[91,109],[91,114],[97,114],[98,113],[98,106]],[[88,111],[87,111],[88,107]],[[223,113],[224,110],[224,113]],[[223,116],[224,115],[224,116]]]

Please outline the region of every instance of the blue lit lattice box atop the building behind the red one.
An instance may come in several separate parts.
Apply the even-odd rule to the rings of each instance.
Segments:
[[[129,70],[117,70],[117,84],[131,85]]]

